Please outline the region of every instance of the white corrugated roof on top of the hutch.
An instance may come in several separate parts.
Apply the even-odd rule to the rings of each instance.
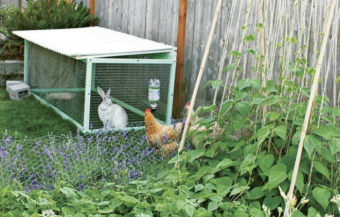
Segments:
[[[68,56],[118,56],[170,52],[175,48],[102,27],[13,31],[41,47]]]

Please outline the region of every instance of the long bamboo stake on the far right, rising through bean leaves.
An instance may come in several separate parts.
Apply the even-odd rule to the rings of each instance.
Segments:
[[[304,140],[305,140],[305,137],[306,137],[306,131],[307,131],[308,122],[309,122],[309,116],[310,116],[310,112],[311,112],[311,109],[312,109],[312,106],[313,106],[313,101],[314,101],[315,95],[317,93],[318,81],[319,81],[319,77],[320,77],[321,66],[322,66],[322,63],[323,63],[323,56],[324,56],[324,53],[326,51],[329,29],[330,29],[330,26],[331,26],[333,15],[334,15],[335,2],[336,2],[336,0],[332,0],[332,4],[331,4],[331,7],[330,7],[327,23],[326,23],[326,26],[325,26],[321,51],[320,51],[318,62],[316,64],[316,70],[315,70],[314,80],[313,80],[313,84],[312,84],[312,89],[310,91],[310,96],[309,96],[309,100],[308,100],[308,106],[307,106],[307,110],[306,110],[304,125],[302,126],[299,148],[298,148],[298,152],[296,154],[293,175],[291,177],[291,182],[290,182],[290,187],[289,187],[289,192],[288,192],[288,198],[292,197],[293,191],[294,191],[297,172],[299,170],[299,165],[300,165],[300,160],[301,160],[302,148],[304,146]],[[288,208],[288,206],[286,206],[285,215],[288,215],[288,211],[289,211],[289,208]]]

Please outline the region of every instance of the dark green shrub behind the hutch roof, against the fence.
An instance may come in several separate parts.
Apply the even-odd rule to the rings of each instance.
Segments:
[[[0,46],[5,49],[1,58],[23,59],[23,39],[12,34],[16,30],[64,29],[93,26],[98,18],[89,14],[83,1],[67,3],[61,0],[28,0],[24,11],[13,5],[0,10],[5,29],[0,32],[6,36]]]

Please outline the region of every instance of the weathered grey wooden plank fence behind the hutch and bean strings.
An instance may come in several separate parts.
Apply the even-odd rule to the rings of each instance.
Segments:
[[[18,0],[1,0],[1,4],[11,1],[17,2]],[[80,0],[76,1],[79,2]],[[89,0],[83,1],[85,5],[88,6]],[[187,0],[183,96],[181,102],[182,108],[190,99],[194,88],[217,1],[218,0]],[[323,1],[316,1],[314,5],[312,5],[312,2],[314,1],[308,0],[308,7],[320,6],[321,4],[324,4]],[[230,26],[229,35],[231,36],[231,40],[227,45],[228,51],[231,52],[232,50],[238,50],[238,46],[241,43],[241,29],[239,28],[240,25],[237,25],[237,23],[245,22],[245,11],[250,10],[247,8],[249,0],[238,1],[239,4],[234,9],[235,14],[233,17],[230,14],[232,11],[232,2],[232,0],[223,0],[209,56],[206,62],[201,87],[203,87],[205,82],[209,80],[215,80],[218,77],[218,71],[222,62],[222,51],[224,44],[226,43],[225,32],[228,29],[228,25]],[[275,2],[272,8],[272,13],[275,11],[277,12],[277,5],[280,4],[280,1],[278,0]],[[294,0],[290,0],[288,2],[290,3],[291,7],[294,7]],[[100,18],[98,23],[99,26],[177,46],[179,4],[180,0],[96,0],[95,15]],[[24,5],[25,4],[23,3],[23,6]],[[308,10],[306,13],[308,15]],[[339,8],[336,10],[336,16],[338,15]],[[254,15],[250,16],[256,20],[258,20],[259,17],[259,15],[255,12]],[[323,16],[323,14],[320,14],[320,16]],[[229,24],[230,21],[231,24]],[[293,34],[298,33],[298,28],[298,26],[294,26]],[[334,61],[336,61],[337,64],[337,67],[335,68],[336,72],[330,72],[327,84],[324,84],[327,86],[327,95],[330,99],[334,98],[335,95],[333,93],[334,90],[332,90],[332,87],[334,86],[333,81],[335,80],[334,77],[340,76],[339,30],[340,22],[336,23],[336,26],[333,26],[331,29],[331,36],[338,38],[338,45],[335,46],[338,49],[336,49],[337,53],[335,55],[335,59],[332,59],[332,62],[334,63]],[[310,40],[313,40],[313,38]],[[230,56],[227,56],[223,61],[223,64],[228,62],[230,58]],[[324,63],[326,63],[325,61],[326,60],[324,60]],[[245,73],[242,75],[242,77],[252,77],[253,75],[249,68],[248,62],[241,63],[243,64],[245,70]],[[225,75],[222,75],[222,78],[224,77]],[[339,89],[339,85],[336,89]],[[199,99],[211,101],[213,96],[214,91],[211,88],[206,88],[199,91]],[[219,97],[221,97],[221,93],[219,93]],[[338,95],[336,95],[336,97],[338,97]]]

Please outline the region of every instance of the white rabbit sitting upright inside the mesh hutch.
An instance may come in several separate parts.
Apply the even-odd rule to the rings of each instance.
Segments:
[[[128,124],[127,114],[123,107],[112,103],[110,98],[111,89],[107,90],[106,95],[100,87],[97,90],[102,97],[102,103],[98,107],[98,115],[104,127],[106,123],[107,128],[115,127],[117,129],[126,127]]]

